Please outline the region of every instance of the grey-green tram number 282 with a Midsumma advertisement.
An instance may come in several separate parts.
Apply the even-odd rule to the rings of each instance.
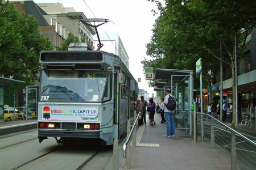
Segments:
[[[98,50],[40,53],[39,143],[101,139],[113,145],[134,116],[138,83],[118,56]]]

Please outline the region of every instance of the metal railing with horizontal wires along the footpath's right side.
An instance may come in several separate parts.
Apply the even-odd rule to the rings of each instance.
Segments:
[[[211,148],[221,147],[226,154],[231,155],[232,170],[256,167],[256,142],[236,131],[234,123],[230,127],[209,114],[198,112],[196,114],[210,118],[210,122],[203,122],[203,128],[200,127],[201,124],[197,124],[197,121],[201,121],[201,116],[200,119],[194,118],[194,125],[197,127],[196,129],[201,129],[201,136],[210,139]],[[197,137],[196,134],[197,131],[193,134],[194,138]]]

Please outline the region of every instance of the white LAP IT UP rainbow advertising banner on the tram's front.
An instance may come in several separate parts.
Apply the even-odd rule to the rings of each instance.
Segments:
[[[98,107],[68,105],[42,105],[42,120],[49,121],[97,121]]]

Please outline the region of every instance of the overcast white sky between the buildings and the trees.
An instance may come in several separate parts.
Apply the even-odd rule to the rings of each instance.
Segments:
[[[151,10],[156,10],[155,2],[147,0],[34,0],[35,3],[62,3],[64,7],[73,7],[77,12],[84,12],[87,18],[110,19],[113,23],[107,23],[98,27],[98,32],[117,32],[121,38],[126,52],[130,58],[130,72],[138,81],[139,88],[152,94],[153,88],[148,87],[144,78],[141,61],[146,57],[145,45],[150,42],[151,29],[156,16]],[[148,57],[147,57],[148,58]],[[154,92],[155,94],[155,92]]]

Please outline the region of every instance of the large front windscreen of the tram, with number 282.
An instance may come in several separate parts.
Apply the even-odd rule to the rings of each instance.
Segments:
[[[44,69],[40,101],[101,102],[110,98],[110,77],[106,71]]]

